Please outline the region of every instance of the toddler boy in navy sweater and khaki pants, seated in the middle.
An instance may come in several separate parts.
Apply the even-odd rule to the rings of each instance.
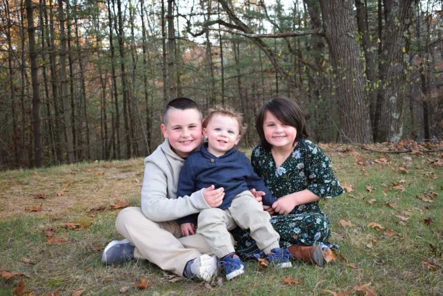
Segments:
[[[291,254],[280,249],[279,234],[269,222],[271,216],[254,199],[249,189],[265,192],[263,204],[272,206],[276,199],[259,178],[246,155],[234,146],[245,127],[241,116],[233,110],[217,108],[209,111],[203,121],[203,135],[208,142],[188,156],[180,172],[178,196],[189,195],[201,188],[215,185],[224,188],[219,207],[207,208],[198,214],[196,233],[206,238],[211,251],[220,258],[228,280],[245,272],[245,264],[235,255],[228,230],[239,226],[250,229],[257,246],[278,267],[291,267]],[[182,234],[194,234],[197,214],[178,220]]]

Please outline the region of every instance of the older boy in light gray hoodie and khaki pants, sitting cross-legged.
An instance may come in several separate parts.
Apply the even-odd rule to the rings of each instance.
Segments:
[[[223,188],[214,186],[177,197],[185,158],[202,141],[201,119],[198,106],[191,99],[176,98],[167,104],[160,126],[165,141],[145,158],[141,208],[120,211],[116,228],[125,239],[106,246],[103,264],[147,259],[163,270],[202,280],[209,280],[216,272],[217,258],[208,255],[210,249],[205,239],[201,235],[182,237],[180,225],[174,221],[219,207],[223,200]]]

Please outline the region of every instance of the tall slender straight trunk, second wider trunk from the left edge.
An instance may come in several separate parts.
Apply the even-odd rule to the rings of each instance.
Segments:
[[[59,10],[59,23],[60,23],[60,81],[62,86],[62,101],[64,110],[64,132],[66,135],[67,144],[67,157],[68,163],[74,162],[74,145],[72,142],[72,129],[71,129],[71,107],[67,98],[67,83],[66,83],[66,37],[64,34],[64,13],[63,13],[63,0],[58,0]]]

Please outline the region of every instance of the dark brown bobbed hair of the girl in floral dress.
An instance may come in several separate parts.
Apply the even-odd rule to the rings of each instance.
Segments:
[[[255,121],[255,128],[257,129],[260,137],[260,144],[263,147],[268,149],[271,148],[271,144],[266,141],[263,131],[263,122],[267,111],[271,112],[275,118],[279,119],[283,123],[297,129],[295,141],[309,137],[308,132],[306,131],[306,119],[300,107],[294,101],[285,97],[284,95],[278,95],[266,102],[261,107]]]

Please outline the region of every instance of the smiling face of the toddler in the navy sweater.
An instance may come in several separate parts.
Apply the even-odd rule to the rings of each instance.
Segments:
[[[219,157],[240,141],[239,123],[230,116],[215,114],[203,128],[208,139],[208,151]]]

